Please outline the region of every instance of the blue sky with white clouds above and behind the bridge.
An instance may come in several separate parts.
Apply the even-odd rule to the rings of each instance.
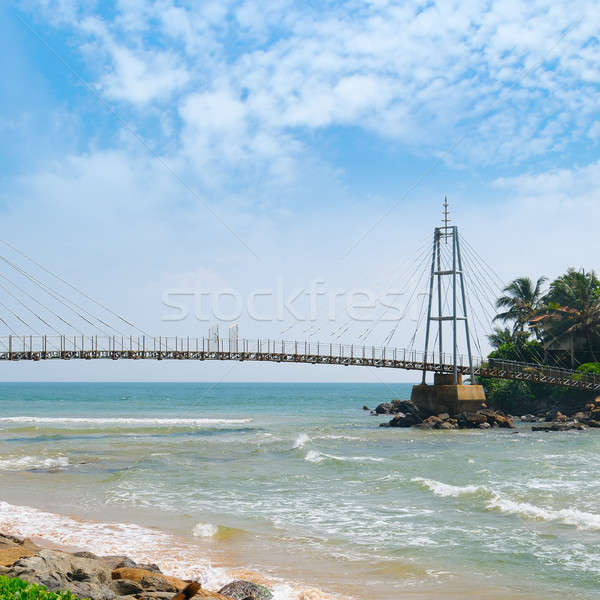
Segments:
[[[440,224],[444,195],[496,282],[595,268],[598,31],[592,0],[8,0],[3,238],[161,335],[201,336],[220,317],[221,331],[235,321],[248,337],[358,341],[371,324],[345,329],[344,294],[407,299],[418,282],[402,274]],[[317,288],[307,325],[302,292]],[[294,316],[285,299],[298,293]],[[409,345],[419,302],[367,343],[393,332],[392,345]],[[227,363],[0,372],[415,379]]]

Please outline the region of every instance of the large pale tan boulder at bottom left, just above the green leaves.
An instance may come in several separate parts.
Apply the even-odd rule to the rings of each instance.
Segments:
[[[68,590],[80,598],[112,600],[110,570],[99,560],[58,550],[41,550],[10,567],[8,577],[45,585],[50,591]]]

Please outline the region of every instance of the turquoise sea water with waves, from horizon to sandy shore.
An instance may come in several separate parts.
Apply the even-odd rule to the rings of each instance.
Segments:
[[[598,597],[600,432],[398,430],[362,410],[409,394],[2,384],[0,530],[117,540],[206,582],[246,567],[279,598]]]

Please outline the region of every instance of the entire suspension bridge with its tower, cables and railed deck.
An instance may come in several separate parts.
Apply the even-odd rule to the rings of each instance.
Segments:
[[[600,391],[600,376],[594,374],[544,364],[543,360],[531,363],[483,358],[477,324],[481,328],[481,314],[487,315],[483,321],[487,321],[489,331],[493,316],[485,302],[494,310],[490,295],[496,293],[497,297],[503,284],[496,282],[494,287],[490,283],[486,277],[493,272],[489,265],[459,236],[458,228],[449,224],[447,202],[443,225],[435,227],[432,242],[425,244],[411,274],[421,271],[414,277],[408,304],[419,296],[422,301],[411,344],[404,348],[394,347],[390,341],[405,313],[381,345],[365,343],[373,327],[359,336],[362,343],[358,344],[339,343],[337,339],[245,339],[238,337],[237,327],[228,338],[219,337],[218,330],[202,338],[153,336],[15,246],[2,243],[7,255],[0,255],[0,263],[8,274],[0,272],[0,327],[7,335],[0,335],[0,364],[48,360],[268,361],[420,371],[422,384],[427,373],[434,373],[451,377],[455,385],[467,375],[471,384],[478,377],[495,377]],[[10,252],[17,258],[9,258]],[[425,291],[418,294],[423,287]],[[480,311],[474,310],[474,303],[479,303]],[[72,333],[65,333],[65,329]],[[135,335],[127,335],[123,329]],[[347,329],[342,325],[338,332]],[[424,342],[417,350],[414,341],[420,329],[424,329]],[[340,335],[336,334],[338,338]],[[473,345],[479,358],[474,356]]]

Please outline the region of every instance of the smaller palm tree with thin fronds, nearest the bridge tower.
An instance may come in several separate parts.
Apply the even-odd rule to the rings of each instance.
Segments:
[[[542,307],[542,286],[545,277],[540,277],[535,286],[529,277],[518,277],[502,290],[506,295],[496,301],[496,307],[506,309],[494,317],[494,321],[513,322],[513,334],[523,332],[529,321],[539,314]],[[537,331],[535,332],[538,335]]]

